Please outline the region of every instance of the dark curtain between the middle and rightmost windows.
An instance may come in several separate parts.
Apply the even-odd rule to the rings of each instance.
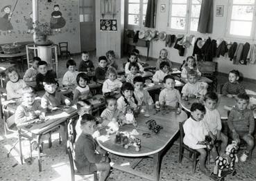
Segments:
[[[197,31],[201,33],[212,33],[213,23],[213,0],[203,0],[200,10]]]

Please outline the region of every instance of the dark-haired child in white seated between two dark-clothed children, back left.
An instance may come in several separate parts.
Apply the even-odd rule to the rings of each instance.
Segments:
[[[76,61],[74,59],[69,59],[67,61],[67,72],[63,76],[62,85],[70,86],[71,88],[76,86],[76,77],[78,75],[78,71],[76,71]]]

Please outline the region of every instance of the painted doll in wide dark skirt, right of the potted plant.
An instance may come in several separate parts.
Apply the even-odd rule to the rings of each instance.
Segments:
[[[66,24],[65,19],[60,12],[60,6],[58,4],[53,6],[53,12],[51,13],[51,29],[56,32],[60,32],[60,28],[63,28]]]

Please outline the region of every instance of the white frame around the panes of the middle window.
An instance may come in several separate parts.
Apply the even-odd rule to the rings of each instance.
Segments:
[[[169,14],[168,14],[168,23],[167,23],[167,30],[171,31],[171,32],[182,32],[182,33],[191,33],[191,34],[200,34],[200,32],[198,31],[194,31],[194,30],[190,30],[191,28],[191,19],[194,17],[191,17],[191,12],[192,12],[192,5],[194,5],[195,3],[192,3],[193,0],[187,0],[187,11],[186,11],[186,17],[185,17],[185,30],[180,30],[180,29],[175,29],[175,28],[171,28],[171,8],[173,6],[173,0],[169,1]],[[179,3],[175,3],[175,4],[179,4]],[[180,4],[185,4],[185,3],[180,3]],[[198,17],[199,19],[199,17]]]

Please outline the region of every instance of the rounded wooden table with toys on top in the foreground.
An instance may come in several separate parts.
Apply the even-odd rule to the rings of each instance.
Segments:
[[[151,111],[155,112],[155,111]],[[155,135],[150,130],[148,130],[148,126],[146,121],[155,120],[157,124],[163,126],[163,129],[160,130],[160,133]],[[137,175],[142,178],[146,178],[148,180],[159,180],[160,178],[160,167],[161,167],[161,159],[162,153],[164,150],[168,149],[169,146],[176,139],[176,135],[178,135],[179,125],[178,122],[182,122],[187,119],[187,115],[185,113],[181,113],[180,115],[176,115],[175,111],[172,111],[168,115],[162,115],[161,112],[157,114],[152,114],[151,117],[144,117],[144,115],[139,115],[137,117],[138,126],[136,130],[139,135],[135,135],[135,137],[141,140],[141,149],[140,151],[135,151],[135,147],[130,146],[129,149],[124,149],[122,145],[115,144],[114,139],[115,135],[110,135],[110,138],[106,141],[101,140],[99,137],[97,140],[99,145],[105,149],[105,151],[109,151],[114,155],[125,156],[129,158],[134,158],[134,162],[130,163],[130,166],[124,164],[113,164],[114,169],[119,169],[121,171],[125,171],[127,173],[131,173],[133,175]],[[133,125],[125,125],[119,128],[119,131],[132,131],[135,127]],[[101,135],[105,133],[105,130],[101,130]],[[142,133],[150,133],[151,137],[146,138],[142,136]],[[153,175],[148,175],[146,173],[142,173],[140,171],[136,171],[135,167],[142,161],[143,158],[153,157],[153,164],[148,165],[153,167]]]

